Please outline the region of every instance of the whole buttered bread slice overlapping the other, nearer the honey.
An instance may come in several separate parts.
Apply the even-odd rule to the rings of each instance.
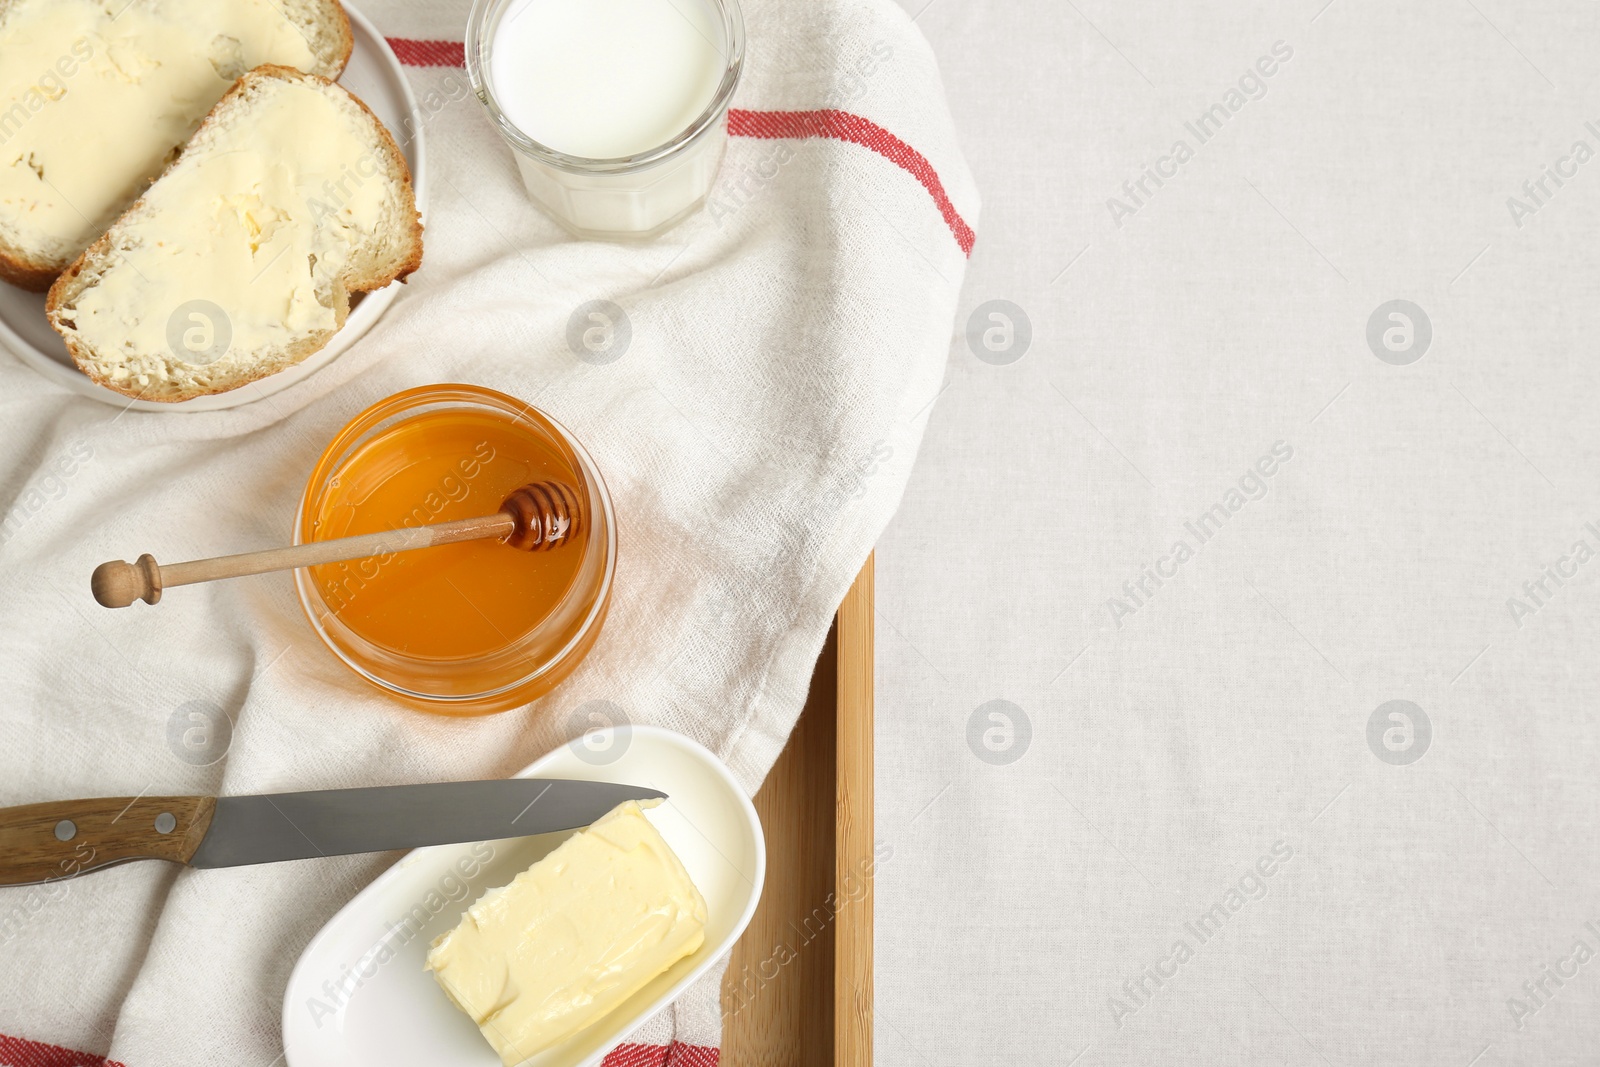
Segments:
[[[347,90],[264,66],[50,288],[78,368],[126,397],[238,389],[322,349],[350,293],[422,262],[411,174]]]

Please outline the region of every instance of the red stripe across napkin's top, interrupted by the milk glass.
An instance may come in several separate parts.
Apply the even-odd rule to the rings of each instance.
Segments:
[[[459,67],[466,62],[466,50],[459,42],[448,40],[411,40],[408,37],[390,37],[389,46],[395,56],[408,67]],[[973,242],[978,235],[966,224],[950,197],[944,192],[939,173],[933,170],[917,149],[910,147],[893,133],[861,115],[848,110],[744,110],[734,107],[728,112],[728,133],[736,138],[829,138],[859,144],[877,152],[894,163],[912,178],[922,182],[934,206],[944,216],[944,222],[955,235],[955,243],[962,253],[973,254]]]

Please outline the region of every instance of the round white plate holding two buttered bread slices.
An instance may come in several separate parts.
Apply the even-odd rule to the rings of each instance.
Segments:
[[[406,82],[405,70],[400,67],[400,61],[395,59],[395,53],[389,48],[384,35],[349,3],[344,5],[344,10],[350,16],[355,46],[350,50],[350,62],[344,67],[339,85],[362,98],[373,109],[373,114],[389,126],[389,133],[394,134],[395,144],[400,146],[400,152],[405,154],[406,165],[411,168],[411,184],[416,187],[416,208],[426,214],[427,184],[424,181],[426,171],[422,170],[426,157],[422,150],[422,117],[418,112],[416,98],[411,96],[411,85]],[[405,136],[413,131],[414,136]],[[262,378],[226,394],[195,397],[194,400],[179,403],[157,403],[154,400],[130,402],[122,394],[90,381],[72,362],[61,334],[50,328],[50,320],[45,318],[45,294],[27,293],[3,282],[0,282],[0,346],[14,352],[18,358],[59,386],[83,397],[115,405],[117,408],[133,408],[134,411],[216,411],[270,397],[315,374],[320,368],[336,360],[341,352],[355,344],[363,333],[371,330],[373,323],[378,322],[378,317],[384,314],[384,309],[394,302],[398,293],[398,282],[376,293],[368,293],[362,298],[360,304],[350,309],[350,317],[344,320],[344,330],[336,333],[322,350],[314,352],[286,371],[278,371],[270,378]]]

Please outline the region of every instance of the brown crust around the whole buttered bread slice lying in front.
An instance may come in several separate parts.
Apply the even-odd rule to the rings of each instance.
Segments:
[[[416,210],[416,194],[411,184],[411,168],[405,162],[405,154],[400,152],[400,146],[395,142],[394,134],[389,133],[389,128],[384,126],[384,123],[378,118],[378,115],[373,114],[373,110],[366,106],[366,102],[362,98],[358,98],[355,93],[350,93],[336,82],[323,78],[322,75],[317,74],[306,74],[302,70],[296,70],[294,67],[283,67],[277,64],[262,64],[254,70],[245,74],[245,77],[235,82],[234,88],[230,88],[222,96],[222,99],[219,99],[216,106],[206,114],[205,120],[195,130],[194,138],[190,138],[189,142],[182,146],[182,149],[166,165],[166,168],[155,179],[155,182],[152,182],[152,187],[157,182],[160,182],[162,178],[165,178],[174,166],[182,163],[184,157],[192,150],[195,141],[198,141],[200,136],[206,133],[214,122],[218,122],[218,117],[224,110],[227,110],[230,101],[235,96],[250,91],[264,78],[301,82],[314,85],[320,90],[326,88],[339,90],[341,93],[344,93],[346,98],[355,102],[355,106],[362,110],[363,115],[366,115],[373,128],[378,131],[378,142],[381,146],[381,150],[386,152],[389,158],[392,179],[400,187],[402,202],[410,208],[406,211],[405,221],[402,222],[402,226],[405,227],[405,234],[395,235],[397,240],[403,240],[408,246],[405,259],[400,261],[400,264],[397,264],[392,270],[387,270],[379,277],[339,278],[342,288],[336,290],[336,296],[341,296],[342,299],[339,299],[334,306],[336,325],[326,334],[312,334],[304,341],[299,341],[285,349],[278,358],[270,358],[270,360],[261,358],[253,366],[242,368],[238,373],[230,376],[227,382],[222,386],[213,389],[205,389],[198,386],[173,387],[160,395],[150,395],[150,387],[144,387],[141,390],[133,382],[117,382],[98,373],[96,370],[98,360],[94,357],[94,352],[88,350],[86,346],[80,344],[78,339],[69,330],[64,330],[61,325],[62,314],[66,312],[70,315],[70,312],[66,307],[67,302],[75,299],[80,293],[77,286],[80,275],[88,267],[94,266],[101,258],[107,256],[112,245],[112,235],[117,234],[117,227],[122,226],[122,222],[128,219],[128,216],[138,213],[144,206],[144,197],[139,197],[139,200],[136,200],[120,216],[117,216],[117,221],[110,224],[109,230],[101,234],[101,237],[93,245],[90,245],[75,261],[72,261],[72,264],[66,270],[61,272],[61,275],[50,286],[50,294],[45,299],[45,314],[50,317],[50,325],[66,341],[67,352],[72,355],[72,362],[77,363],[78,370],[83,371],[83,374],[88,376],[96,384],[104,386],[112,392],[122,394],[123,397],[130,397],[134,400],[155,400],[160,403],[182,403],[184,400],[194,400],[195,397],[210,397],[216,394],[232,392],[234,389],[240,389],[243,386],[248,386],[250,382],[256,382],[261,381],[262,378],[270,378],[278,371],[288,370],[290,366],[294,366],[302,360],[306,360],[306,357],[312,355],[314,352],[322,350],[339,333],[339,330],[344,328],[344,323],[350,312],[350,299],[349,299],[350,294],[371,293],[390,285],[392,282],[405,282],[408,275],[411,275],[414,270],[418,270],[418,267],[422,266],[422,219]]]

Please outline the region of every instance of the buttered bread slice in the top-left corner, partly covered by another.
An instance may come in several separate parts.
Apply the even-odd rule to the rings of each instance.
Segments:
[[[242,74],[352,42],[339,0],[0,0],[0,278],[48,290]]]

